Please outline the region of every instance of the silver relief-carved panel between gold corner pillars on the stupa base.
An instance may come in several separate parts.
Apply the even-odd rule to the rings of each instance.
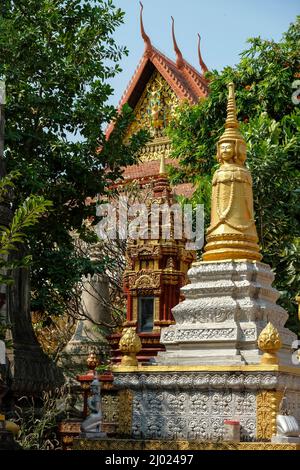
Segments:
[[[243,440],[255,439],[255,392],[186,390],[159,395],[147,391],[134,398],[133,437],[218,440],[223,437],[224,419],[238,416]],[[237,402],[243,410],[240,415],[236,411]]]

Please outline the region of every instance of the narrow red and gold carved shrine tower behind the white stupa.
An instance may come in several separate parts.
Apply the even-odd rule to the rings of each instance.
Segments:
[[[196,257],[194,251],[186,249],[183,235],[180,239],[174,236],[177,216],[172,209],[168,211],[174,204],[176,201],[162,157],[153,196],[147,201],[148,238],[129,239],[126,252],[124,294],[127,299],[127,320],[124,327],[135,327],[139,334],[142,342],[138,356],[140,361],[148,360],[158,351],[164,350],[160,344],[160,329],[174,324],[171,309],[183,300],[180,288],[187,283],[187,271]],[[155,217],[151,212],[153,207],[159,208]],[[183,234],[182,220],[180,215],[177,223],[181,224]],[[153,233],[150,238],[151,229]],[[115,347],[119,339],[120,335],[111,336]]]

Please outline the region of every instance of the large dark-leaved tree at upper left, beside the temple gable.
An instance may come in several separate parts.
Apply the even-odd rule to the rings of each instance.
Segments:
[[[87,197],[106,194],[133,163],[146,132],[123,136],[133,116],[117,116],[107,103],[108,80],[127,54],[113,33],[124,13],[111,0],[3,0],[0,76],[7,90],[5,160],[19,171],[15,206],[30,193],[53,208],[29,233],[32,308],[61,313],[83,274],[105,268],[103,260],[78,256],[71,232],[83,240],[82,221],[95,216]],[[109,141],[104,127],[116,125]],[[95,223],[97,218],[95,218]]]

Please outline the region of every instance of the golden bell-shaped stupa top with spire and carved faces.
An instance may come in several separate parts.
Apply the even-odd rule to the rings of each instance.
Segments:
[[[261,259],[254,221],[252,178],[245,167],[246,142],[236,118],[234,84],[229,83],[225,132],[217,144],[220,168],[212,181],[211,221],[204,261]]]

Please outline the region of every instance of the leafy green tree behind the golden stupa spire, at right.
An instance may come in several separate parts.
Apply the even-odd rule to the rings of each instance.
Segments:
[[[256,224],[263,261],[275,270],[280,303],[289,310],[289,326],[299,330],[299,170],[300,104],[292,101],[299,77],[300,17],[280,42],[249,39],[235,67],[207,73],[210,94],[196,106],[181,106],[171,123],[174,183],[191,181],[194,202],[205,204],[209,219],[210,181],[215,171],[216,142],[224,131],[227,84],[236,86],[238,118],[247,140],[247,164],[253,176]],[[207,217],[208,216],[208,217]]]

